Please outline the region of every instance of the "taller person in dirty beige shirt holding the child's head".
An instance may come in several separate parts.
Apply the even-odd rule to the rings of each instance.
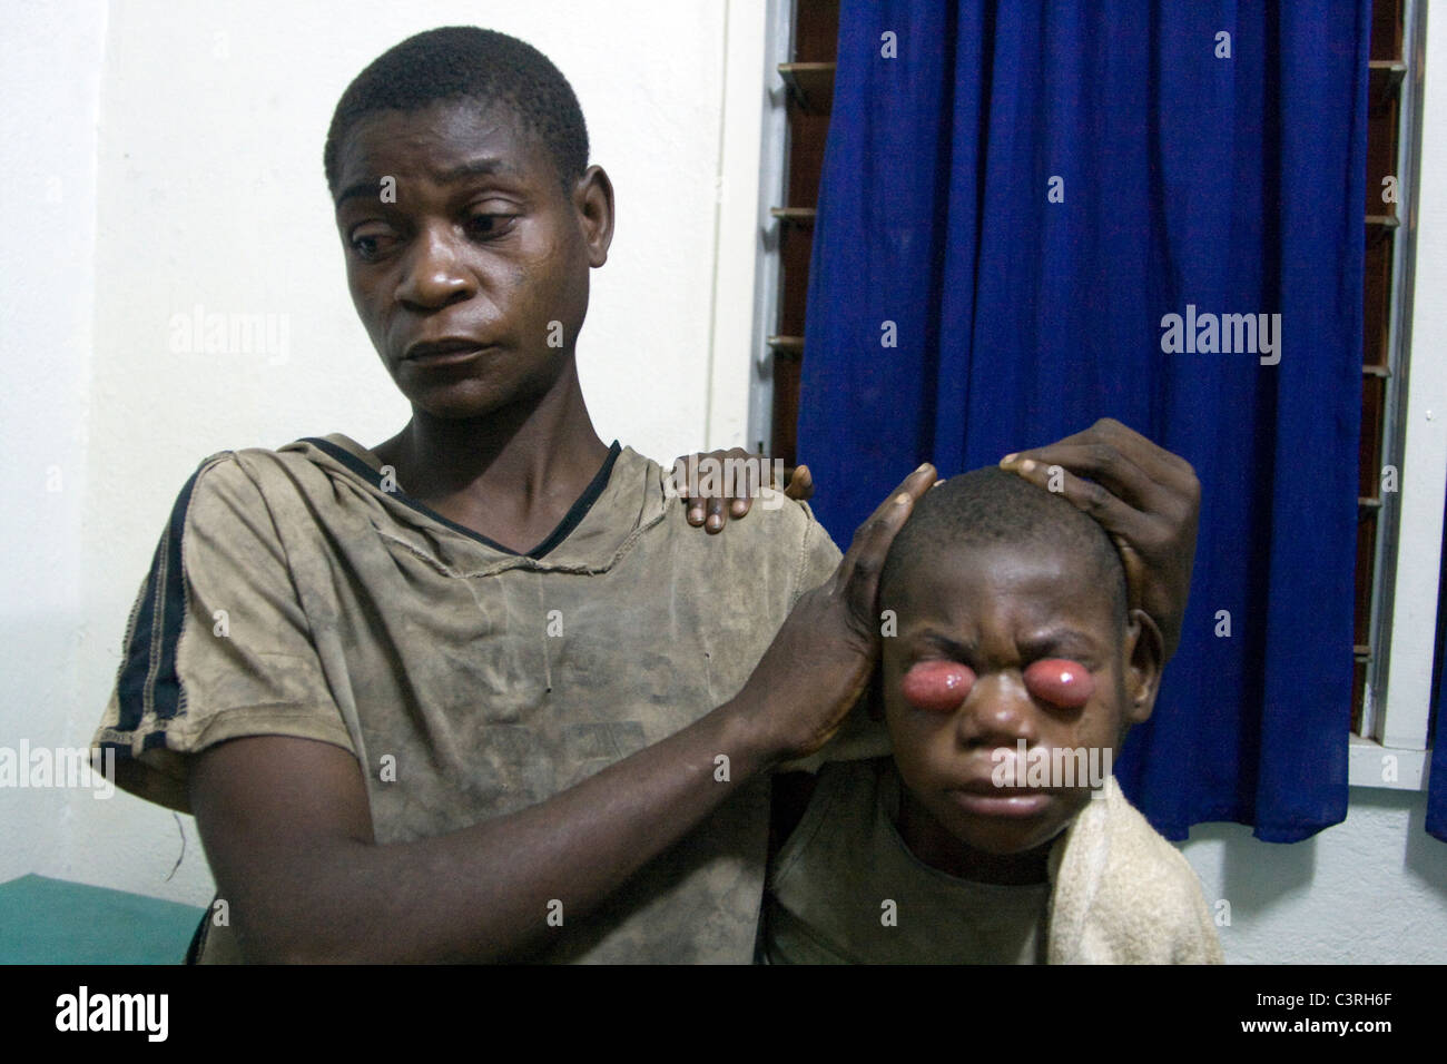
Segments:
[[[324,162],[412,417],[203,463],[96,737],[122,786],[195,814],[229,913],[201,960],[747,961],[768,774],[862,691],[875,576],[933,469],[841,559],[794,504],[699,534],[602,443],[576,343],[612,185],[531,46],[404,41]],[[1056,449],[1032,453],[1156,499],[1110,512],[1179,618],[1188,468],[1123,427]]]

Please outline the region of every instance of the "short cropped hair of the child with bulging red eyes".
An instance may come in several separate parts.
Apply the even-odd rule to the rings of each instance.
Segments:
[[[969,547],[1051,544],[1095,566],[1103,591],[1124,627],[1129,611],[1126,569],[1106,530],[1064,495],[1016,473],[985,466],[951,476],[925,492],[890,544],[880,572],[880,602],[915,565]]]

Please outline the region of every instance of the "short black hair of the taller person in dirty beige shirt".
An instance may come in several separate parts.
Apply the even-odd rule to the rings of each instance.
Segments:
[[[443,26],[410,36],[347,85],[327,130],[321,164],[336,193],[341,140],[375,111],[417,111],[438,100],[506,104],[547,149],[563,187],[587,169],[587,126],[573,87],[532,45],[478,26]]]

